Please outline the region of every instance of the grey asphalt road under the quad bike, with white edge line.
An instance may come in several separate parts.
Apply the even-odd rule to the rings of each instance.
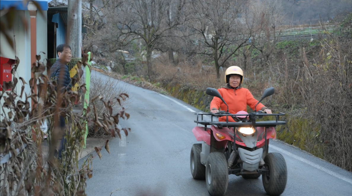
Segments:
[[[107,76],[92,72],[92,77]],[[122,127],[131,128],[126,138],[110,142],[110,154],[93,160],[88,196],[209,195],[205,181],[190,173],[190,150],[197,142],[191,130],[196,108],[171,97],[119,81],[127,87],[131,117]],[[177,103],[176,103],[177,102]],[[270,141],[269,152],[281,152],[287,162],[288,181],[282,196],[351,196],[352,173],[281,141]],[[112,193],[113,192],[113,193]],[[111,194],[112,193],[112,194]],[[229,176],[227,196],[266,195],[261,177]]]

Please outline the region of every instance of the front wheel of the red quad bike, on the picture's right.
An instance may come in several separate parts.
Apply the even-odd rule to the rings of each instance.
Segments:
[[[281,195],[287,183],[287,166],[280,153],[270,152],[264,158],[269,172],[262,175],[264,190],[268,195]]]

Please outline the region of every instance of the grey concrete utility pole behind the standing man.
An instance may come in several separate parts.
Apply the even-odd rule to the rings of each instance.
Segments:
[[[81,43],[82,43],[82,0],[68,0],[68,24],[67,38],[71,46],[72,57],[81,58]]]

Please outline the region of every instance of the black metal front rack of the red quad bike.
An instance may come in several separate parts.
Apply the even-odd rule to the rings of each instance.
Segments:
[[[249,113],[249,114],[244,114],[244,115],[236,115],[236,114],[214,114],[214,113],[195,113],[197,115],[197,120],[194,120],[195,123],[207,126],[207,125],[216,125],[218,127],[275,127],[277,125],[285,125],[285,121],[280,121],[279,116],[284,116],[284,113],[278,113],[278,114],[267,114],[267,113]],[[203,120],[204,115],[210,115],[211,116],[211,121],[206,121]],[[227,116],[226,117],[226,122],[219,122],[219,121],[213,121],[213,116]],[[228,117],[231,116],[247,116],[250,118],[250,121],[247,122],[228,122]],[[256,116],[275,116],[276,120],[265,120],[265,121],[256,121],[254,118]],[[199,119],[201,117],[201,119]]]

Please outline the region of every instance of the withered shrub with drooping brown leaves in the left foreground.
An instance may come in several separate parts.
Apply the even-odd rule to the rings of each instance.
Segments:
[[[3,11],[3,10],[2,10]],[[2,12],[1,11],[1,12]],[[13,22],[11,18],[15,9],[6,9],[4,12],[9,14],[6,17],[7,24]],[[25,19],[23,22],[27,22]],[[13,25],[3,26],[1,24],[1,33],[11,30]],[[3,44],[3,43],[1,43]],[[105,101],[102,96],[92,99],[92,104],[82,113],[75,113],[72,108],[75,100],[78,98],[77,91],[63,89],[63,87],[52,80],[49,69],[50,61],[40,61],[40,55],[37,55],[37,61],[32,64],[32,75],[29,81],[17,77],[17,69],[28,64],[21,62],[16,57],[12,64],[11,73],[13,80],[5,83],[0,99],[3,100],[1,106],[1,130],[0,130],[0,153],[1,158],[0,170],[0,192],[1,195],[85,195],[86,179],[92,177],[91,157],[78,166],[78,154],[83,148],[83,137],[85,135],[85,125],[95,125],[96,128],[102,128],[112,136],[120,136],[120,130],[117,124],[120,118],[129,118],[129,114],[120,110],[113,113],[113,104],[111,100]],[[82,67],[88,65],[88,55],[83,53],[82,60],[77,63],[78,78],[73,83],[80,80],[82,76]],[[48,75],[45,74],[48,70]],[[60,74],[60,78],[64,73]],[[30,94],[25,91],[29,85]],[[57,87],[57,91],[55,90]],[[11,89],[10,91],[5,91]],[[86,92],[85,84],[80,85],[80,90]],[[126,93],[119,93],[114,99],[125,100],[128,98]],[[103,103],[106,112],[98,115],[94,100]],[[32,104],[32,103],[33,104]],[[66,120],[67,129],[59,127],[59,116]],[[41,131],[39,125],[45,118],[53,120],[52,127],[49,130],[50,146],[49,153],[46,155],[41,144]],[[114,128],[110,128],[113,126]],[[122,129],[126,136],[127,130]],[[37,137],[34,140],[33,134]],[[67,136],[67,148],[63,151],[61,161],[55,156],[55,148],[58,140],[63,134]],[[105,149],[109,152],[108,141]],[[98,151],[99,152],[99,151]],[[11,156],[10,156],[11,155]],[[99,155],[99,153],[98,153]],[[8,158],[9,157],[9,158]],[[101,157],[101,155],[99,155]],[[3,163],[4,162],[4,163]]]

